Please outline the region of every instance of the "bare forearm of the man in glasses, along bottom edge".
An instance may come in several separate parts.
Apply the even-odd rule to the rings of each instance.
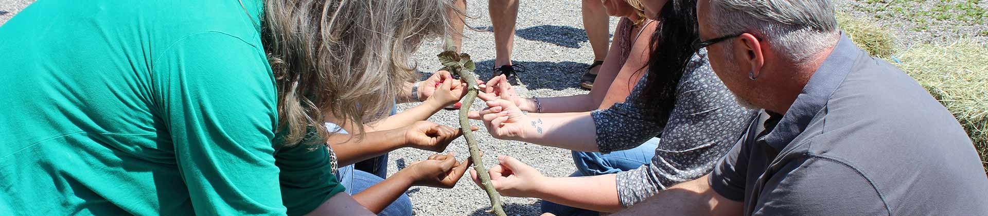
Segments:
[[[741,215],[743,203],[717,194],[708,177],[673,185],[615,215]]]

